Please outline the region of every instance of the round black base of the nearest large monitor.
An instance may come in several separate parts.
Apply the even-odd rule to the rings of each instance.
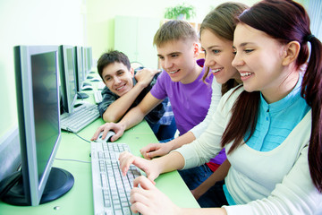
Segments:
[[[13,184],[11,189],[2,194],[2,201],[13,205],[30,206],[31,202],[27,201],[24,194],[21,172],[15,172],[4,185]],[[3,183],[3,182],[2,182]],[[74,177],[72,174],[62,168],[52,168],[48,176],[47,185],[41,197],[39,204],[47,203],[58,199],[72,189]]]

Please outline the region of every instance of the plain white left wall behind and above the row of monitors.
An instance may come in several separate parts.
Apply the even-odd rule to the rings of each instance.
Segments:
[[[82,0],[0,0],[0,137],[17,124],[13,47],[86,45]]]

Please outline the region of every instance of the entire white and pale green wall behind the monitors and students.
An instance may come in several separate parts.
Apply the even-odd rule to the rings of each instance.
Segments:
[[[0,1],[0,137],[17,124],[13,47],[17,45],[76,45],[93,47],[93,58],[114,47],[115,15],[164,18],[165,8],[192,4],[202,22],[226,0],[12,0]],[[243,0],[252,5],[258,0]],[[306,5],[308,0],[298,0]],[[128,32],[131,37],[131,32]],[[152,41],[151,41],[152,44]]]

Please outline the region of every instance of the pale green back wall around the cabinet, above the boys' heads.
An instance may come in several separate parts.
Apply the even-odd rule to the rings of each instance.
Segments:
[[[177,4],[191,4],[196,8],[196,17],[191,22],[202,22],[203,18],[218,4],[227,0],[90,0],[87,2],[87,27],[89,33],[89,45],[93,47],[93,58],[97,58],[109,48],[114,48],[114,17],[115,15],[140,16],[158,18],[160,22],[164,19],[166,7]],[[252,5],[258,0],[243,0],[244,4]],[[142,32],[144,33],[144,32]],[[128,32],[131,37],[131,32]],[[152,41],[151,41],[152,46]]]

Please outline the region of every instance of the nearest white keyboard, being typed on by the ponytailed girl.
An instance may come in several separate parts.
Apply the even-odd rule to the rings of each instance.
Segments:
[[[92,186],[95,215],[134,214],[130,193],[139,168],[131,165],[126,176],[121,173],[118,157],[126,143],[91,142]]]

